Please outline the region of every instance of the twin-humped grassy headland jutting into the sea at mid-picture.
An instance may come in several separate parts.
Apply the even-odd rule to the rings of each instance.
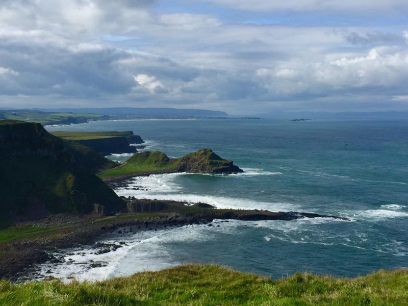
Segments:
[[[169,158],[159,151],[144,151],[133,155],[119,167],[98,173],[106,181],[152,173],[239,173],[242,169],[232,161],[216,155],[211,149],[200,149],[183,156]]]

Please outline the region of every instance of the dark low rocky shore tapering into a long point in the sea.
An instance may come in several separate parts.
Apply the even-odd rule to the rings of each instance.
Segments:
[[[151,200],[138,200],[149,202]],[[159,201],[160,202],[160,201]],[[334,218],[347,220],[338,216],[318,215],[301,212],[269,212],[263,210],[215,209],[205,203],[186,206],[185,203],[161,201],[166,207],[160,213],[118,214],[104,217],[97,215],[70,218],[69,224],[53,224],[49,220],[37,222],[41,225],[60,225],[55,231],[38,235],[30,239],[14,240],[0,245],[0,278],[24,278],[25,273],[34,265],[47,261],[58,260],[49,255],[50,251],[81,245],[93,245],[98,239],[119,228],[132,228],[133,231],[154,231],[157,228],[183,226],[187,224],[208,224],[214,219],[236,220],[295,220],[299,218]],[[151,215],[151,216],[150,216]],[[60,218],[61,219],[61,218]],[[60,220],[59,219],[59,220]],[[131,231],[121,231],[122,235]],[[110,251],[107,248],[107,251]]]

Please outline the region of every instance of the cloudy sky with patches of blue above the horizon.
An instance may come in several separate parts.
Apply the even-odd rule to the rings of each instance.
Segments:
[[[406,0],[0,0],[0,108],[408,111]]]

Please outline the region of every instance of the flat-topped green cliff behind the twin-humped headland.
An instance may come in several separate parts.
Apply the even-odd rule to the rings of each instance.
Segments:
[[[55,136],[88,146],[103,155],[113,153],[135,153],[136,147],[143,139],[133,132],[53,132]]]

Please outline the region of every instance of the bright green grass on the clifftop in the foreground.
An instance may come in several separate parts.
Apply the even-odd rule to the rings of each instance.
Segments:
[[[408,270],[353,279],[296,273],[272,281],[186,265],[97,283],[0,282],[1,305],[407,305]]]

